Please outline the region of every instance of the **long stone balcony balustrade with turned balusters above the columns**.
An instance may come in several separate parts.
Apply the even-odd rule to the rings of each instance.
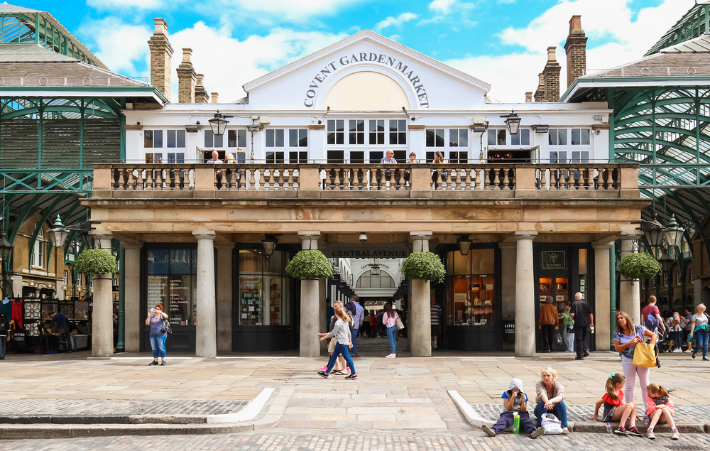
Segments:
[[[626,192],[622,195],[621,192]],[[634,194],[635,193],[635,194]],[[97,164],[93,197],[638,197],[635,163]]]

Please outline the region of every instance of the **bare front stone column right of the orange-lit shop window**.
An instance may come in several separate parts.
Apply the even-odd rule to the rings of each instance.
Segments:
[[[533,280],[532,239],[537,232],[515,232],[515,355],[535,355],[535,281]]]

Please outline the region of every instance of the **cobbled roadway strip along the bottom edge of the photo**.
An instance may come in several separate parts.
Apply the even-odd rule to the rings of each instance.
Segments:
[[[0,451],[84,451],[97,450],[174,451],[413,451],[413,450],[578,450],[578,451],[703,451],[710,449],[710,434],[684,434],[670,440],[660,434],[656,440],[621,438],[606,434],[543,436],[532,440],[524,435],[501,434],[489,438],[481,431],[432,433],[426,431],[358,431],[273,429],[256,433],[224,435],[170,435],[146,437],[74,438],[53,440],[0,441]]]

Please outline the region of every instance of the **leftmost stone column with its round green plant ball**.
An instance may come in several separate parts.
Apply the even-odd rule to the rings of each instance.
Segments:
[[[87,249],[77,256],[74,266],[78,273],[94,276],[92,357],[110,358],[114,353],[114,305],[111,286],[113,273],[116,272],[116,257],[106,249]]]

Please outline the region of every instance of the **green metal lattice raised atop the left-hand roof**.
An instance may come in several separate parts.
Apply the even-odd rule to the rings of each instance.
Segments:
[[[0,41],[35,43],[84,63],[108,69],[50,13],[41,11],[0,13]]]

